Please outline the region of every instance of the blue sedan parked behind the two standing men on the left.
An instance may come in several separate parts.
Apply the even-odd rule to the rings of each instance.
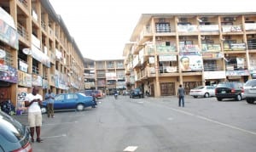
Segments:
[[[61,93],[55,95],[54,110],[84,110],[85,107],[96,107],[96,101],[84,93]],[[43,102],[42,113],[47,112],[47,102]]]

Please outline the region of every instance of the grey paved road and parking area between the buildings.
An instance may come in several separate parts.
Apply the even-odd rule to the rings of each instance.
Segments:
[[[43,144],[35,152],[256,151],[255,104],[215,98],[99,100],[96,109],[44,115]],[[27,124],[26,115],[15,116]]]

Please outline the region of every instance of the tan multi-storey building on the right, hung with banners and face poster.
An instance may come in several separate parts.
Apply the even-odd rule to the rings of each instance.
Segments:
[[[256,77],[256,13],[142,14],[124,48],[125,73],[152,96]]]

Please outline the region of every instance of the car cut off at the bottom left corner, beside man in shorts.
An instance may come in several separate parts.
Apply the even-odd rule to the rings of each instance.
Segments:
[[[0,111],[0,151],[32,152],[28,128]]]

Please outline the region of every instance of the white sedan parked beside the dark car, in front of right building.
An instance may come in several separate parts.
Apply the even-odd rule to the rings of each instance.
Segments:
[[[215,87],[213,86],[195,87],[190,90],[189,95],[193,96],[194,98],[197,98],[197,97],[209,98],[209,97],[215,96]]]

